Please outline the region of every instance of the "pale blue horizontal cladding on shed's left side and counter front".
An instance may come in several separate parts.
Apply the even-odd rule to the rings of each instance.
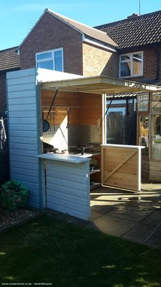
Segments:
[[[40,71],[46,74],[46,70]],[[46,160],[46,197],[44,159],[38,158],[41,151],[38,75],[39,69],[35,68],[7,74],[10,178],[29,188],[31,207],[47,207],[87,220],[90,214],[89,161],[76,163],[78,158],[75,162],[72,158],[70,162],[69,159]]]

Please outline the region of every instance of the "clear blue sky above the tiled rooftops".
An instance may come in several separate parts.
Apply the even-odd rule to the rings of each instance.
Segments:
[[[45,8],[90,26],[139,12],[139,0],[1,0],[0,49],[20,45]],[[161,10],[161,0],[141,0],[141,14]]]

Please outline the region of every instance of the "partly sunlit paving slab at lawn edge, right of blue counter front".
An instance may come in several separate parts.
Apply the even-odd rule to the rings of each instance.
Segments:
[[[92,226],[101,232],[115,236],[122,236],[136,225],[134,221],[119,219],[108,214],[100,216],[98,219],[93,220],[92,223]],[[89,226],[91,226],[91,223],[89,223]]]

